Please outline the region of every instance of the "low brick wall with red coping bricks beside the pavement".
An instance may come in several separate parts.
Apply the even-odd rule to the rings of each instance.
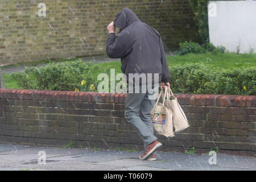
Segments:
[[[162,150],[195,147],[255,156],[256,96],[179,94],[191,125],[166,138]],[[0,89],[0,142],[104,148],[142,147],[123,117],[126,94]]]

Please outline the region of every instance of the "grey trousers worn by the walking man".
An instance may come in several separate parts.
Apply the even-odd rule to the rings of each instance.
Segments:
[[[145,151],[148,144],[158,139],[154,136],[150,114],[154,104],[155,98],[152,97],[152,94],[148,93],[148,90],[146,93],[129,93],[129,91],[127,93],[125,118],[127,119],[127,122],[133,125],[137,130],[139,136],[143,140]]]

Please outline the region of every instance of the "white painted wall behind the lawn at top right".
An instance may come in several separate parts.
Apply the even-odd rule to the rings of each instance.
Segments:
[[[230,52],[256,53],[256,1],[210,1],[208,3],[210,42]]]

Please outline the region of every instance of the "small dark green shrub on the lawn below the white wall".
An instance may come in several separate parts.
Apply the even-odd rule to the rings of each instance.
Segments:
[[[176,51],[177,55],[184,55],[186,53],[205,53],[205,52],[213,52],[213,53],[224,53],[224,47],[215,47],[212,43],[199,44],[197,42],[183,42],[179,43],[180,49]]]

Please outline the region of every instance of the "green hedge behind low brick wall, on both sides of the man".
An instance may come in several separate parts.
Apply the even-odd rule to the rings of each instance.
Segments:
[[[92,61],[76,60],[26,68],[11,77],[24,89],[97,92],[98,73],[110,75],[109,70]],[[170,75],[174,93],[256,95],[256,68],[209,68],[203,63],[187,63],[170,67]]]

